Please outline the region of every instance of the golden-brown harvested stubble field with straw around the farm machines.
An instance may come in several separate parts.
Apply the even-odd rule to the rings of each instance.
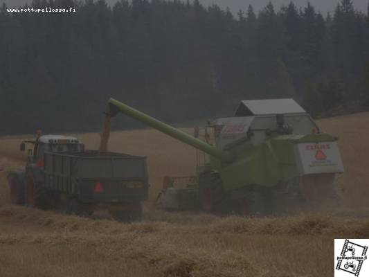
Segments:
[[[25,157],[21,139],[1,139],[0,276],[332,276],[333,239],[369,238],[369,113],[319,124],[339,136],[347,206],[293,217],[168,213],[149,202],[143,222],[120,224],[11,206],[6,172]],[[98,134],[77,136],[98,148]],[[148,157],[151,200],[163,176],[195,171],[195,150],[152,129],[113,132],[109,150]]]

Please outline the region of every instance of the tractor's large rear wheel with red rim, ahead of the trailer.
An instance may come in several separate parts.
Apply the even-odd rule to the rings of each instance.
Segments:
[[[46,208],[48,202],[46,190],[35,182],[32,172],[27,173],[25,186],[25,204],[32,208]]]

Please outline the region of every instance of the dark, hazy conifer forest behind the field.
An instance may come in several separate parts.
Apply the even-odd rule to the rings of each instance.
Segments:
[[[231,115],[241,99],[293,97],[317,115],[369,96],[368,14],[350,0],[324,16],[294,3],[236,17],[198,1],[31,6],[76,12],[1,8],[2,134],[96,131],[111,96],[169,122]]]

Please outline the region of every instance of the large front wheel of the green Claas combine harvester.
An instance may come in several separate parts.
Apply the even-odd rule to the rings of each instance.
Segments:
[[[222,179],[217,172],[203,172],[199,176],[199,202],[207,213],[222,211],[224,192]]]

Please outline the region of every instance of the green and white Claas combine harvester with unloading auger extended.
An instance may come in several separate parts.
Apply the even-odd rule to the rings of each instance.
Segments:
[[[165,208],[270,215],[339,200],[337,139],[322,133],[293,99],[241,101],[234,116],[208,123],[205,141],[111,98],[107,117],[118,112],[209,155],[196,186],[165,189]]]

